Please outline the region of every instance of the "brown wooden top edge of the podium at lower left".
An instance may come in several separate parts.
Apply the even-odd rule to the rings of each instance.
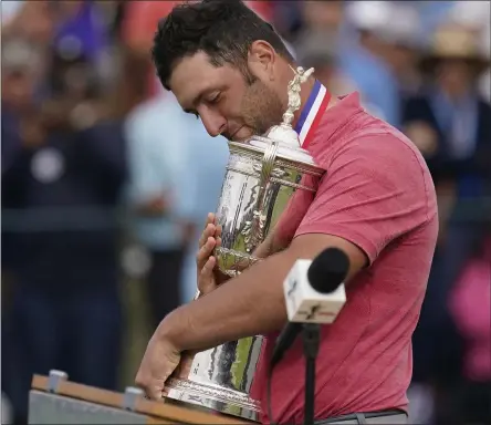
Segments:
[[[34,375],[31,390],[50,392],[48,376]],[[95,403],[119,410],[125,408],[125,394],[101,390],[87,385],[61,380],[56,385],[55,394],[84,402]],[[150,402],[136,397],[132,411],[147,416],[147,424],[253,424],[247,419],[234,418],[221,414],[210,414],[182,406],[166,403]]]

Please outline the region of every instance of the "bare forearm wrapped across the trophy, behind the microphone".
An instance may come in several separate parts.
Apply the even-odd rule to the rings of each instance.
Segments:
[[[170,313],[158,332],[179,351],[280,330],[286,321],[283,280],[295,261],[289,250],[269,257],[206,297]]]

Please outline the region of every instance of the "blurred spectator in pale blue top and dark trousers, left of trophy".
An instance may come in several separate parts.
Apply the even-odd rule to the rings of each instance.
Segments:
[[[179,281],[190,228],[184,200],[190,201],[186,157],[188,133],[184,113],[171,97],[160,94],[134,111],[126,120],[128,141],[128,200],[136,239],[150,255],[147,276],[150,323],[180,303]],[[163,126],[166,128],[163,132]]]

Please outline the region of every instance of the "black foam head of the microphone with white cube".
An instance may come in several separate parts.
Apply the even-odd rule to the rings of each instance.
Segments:
[[[311,263],[307,278],[312,288],[321,293],[330,293],[343,283],[349,270],[349,259],[341,249],[327,248]]]

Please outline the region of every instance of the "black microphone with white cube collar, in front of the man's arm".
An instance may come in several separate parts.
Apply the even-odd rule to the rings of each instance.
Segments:
[[[327,248],[314,260],[296,260],[283,282],[289,323],[276,339],[271,370],[281,361],[305,323],[332,323],[346,302],[343,280],[349,259]]]

